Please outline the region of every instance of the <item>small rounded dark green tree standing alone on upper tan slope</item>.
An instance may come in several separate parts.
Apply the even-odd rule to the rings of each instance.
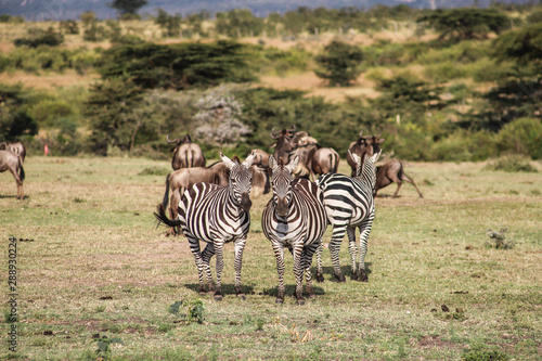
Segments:
[[[328,80],[330,85],[348,87],[361,74],[362,60],[363,52],[360,48],[334,40],[324,48],[324,54],[317,56],[315,61],[323,70],[314,73]]]

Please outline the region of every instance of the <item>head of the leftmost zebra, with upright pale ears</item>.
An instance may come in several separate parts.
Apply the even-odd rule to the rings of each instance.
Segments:
[[[230,196],[233,203],[246,212],[253,205],[250,201],[253,173],[248,168],[253,165],[255,156],[253,152],[245,162],[241,163],[236,156],[232,160],[220,152],[222,162],[230,169]]]

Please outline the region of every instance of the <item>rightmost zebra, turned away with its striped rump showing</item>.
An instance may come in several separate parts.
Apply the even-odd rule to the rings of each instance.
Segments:
[[[363,169],[361,170],[361,158],[350,153],[350,156],[358,165],[357,177],[350,178],[345,175],[327,173],[317,180],[317,184],[324,193],[324,205],[327,220],[333,225],[332,240],[330,242],[330,253],[333,262],[333,274],[339,282],[345,282],[345,276],[340,271],[339,250],[340,243],[348,233],[348,250],[351,258],[351,279],[367,282],[365,273],[365,255],[367,253],[367,238],[373,225],[375,206],[373,199],[374,186],[376,183],[375,163],[380,156],[380,152],[372,157],[363,154]],[[359,268],[356,267],[356,228],[360,229]],[[317,280],[323,282],[322,272],[323,246],[317,254]]]

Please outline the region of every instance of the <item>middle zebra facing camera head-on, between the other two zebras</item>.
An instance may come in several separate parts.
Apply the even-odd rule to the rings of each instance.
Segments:
[[[273,197],[261,215],[261,229],[271,241],[279,272],[279,295],[276,302],[284,302],[284,247],[294,256],[296,276],[296,297],[298,305],[305,305],[302,297],[304,273],[307,280],[307,293],[315,297],[310,267],[312,256],[322,243],[327,227],[323,195],[320,189],[306,179],[293,180],[292,171],[297,167],[299,157],[286,166],[273,156],[269,166],[273,170]]]

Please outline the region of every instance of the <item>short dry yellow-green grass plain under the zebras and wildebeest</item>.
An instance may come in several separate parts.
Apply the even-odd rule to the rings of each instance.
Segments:
[[[33,240],[17,243],[17,351],[2,341],[2,358],[95,360],[96,337],[103,336],[124,343],[111,345],[105,357],[114,360],[541,358],[540,172],[410,163],[406,173],[425,198],[410,184],[399,198],[377,198],[370,282],[349,280],[345,241],[347,282],[332,280],[325,250],[325,283],[317,284],[314,300],[298,307],[293,297],[275,304],[275,261],[260,225],[269,195],[254,199],[250,211],[242,272],[246,300],[234,295],[231,244],[224,299],[197,294],[186,241],[166,237],[152,215],[168,169],[168,162],[139,158],[28,157],[22,202],[11,175],[0,175],[2,280],[9,238]],[[345,162],[339,170],[348,172]],[[515,247],[486,246],[487,229],[504,227]],[[287,253],[286,261],[292,295]],[[12,324],[5,322],[9,291],[2,283],[7,340]],[[168,311],[176,301],[197,299],[203,323]]]

